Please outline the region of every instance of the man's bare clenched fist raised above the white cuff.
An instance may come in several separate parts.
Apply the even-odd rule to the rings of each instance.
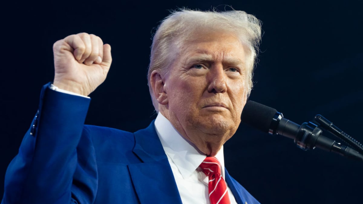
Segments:
[[[94,34],[78,33],[53,45],[54,81],[60,89],[89,95],[103,81],[111,66],[111,46]]]

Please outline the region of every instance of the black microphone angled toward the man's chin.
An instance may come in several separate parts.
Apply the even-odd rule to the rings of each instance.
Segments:
[[[363,160],[363,155],[350,147],[343,146],[322,135],[322,130],[312,122],[298,125],[286,118],[276,109],[254,101],[247,101],[241,115],[241,121],[271,135],[282,135],[294,139],[303,150],[315,147],[335,152],[348,158]]]

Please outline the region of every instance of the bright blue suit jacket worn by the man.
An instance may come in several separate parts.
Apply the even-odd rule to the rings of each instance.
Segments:
[[[48,86],[9,164],[1,204],[181,204],[154,122],[134,133],[83,125],[90,99]],[[237,203],[258,203],[227,170],[225,180]]]

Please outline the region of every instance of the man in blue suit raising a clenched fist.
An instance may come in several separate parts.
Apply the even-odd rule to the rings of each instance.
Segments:
[[[57,41],[53,84],[8,167],[2,203],[258,203],[225,170],[223,144],[252,88],[260,36],[241,11],[168,16],[148,71],[158,117],[134,133],[83,125],[110,45],[87,33]]]

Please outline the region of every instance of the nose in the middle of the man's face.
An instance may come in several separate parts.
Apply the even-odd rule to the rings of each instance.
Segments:
[[[222,65],[215,66],[209,69],[208,81],[208,92],[224,93],[225,91],[227,91],[226,75]]]

